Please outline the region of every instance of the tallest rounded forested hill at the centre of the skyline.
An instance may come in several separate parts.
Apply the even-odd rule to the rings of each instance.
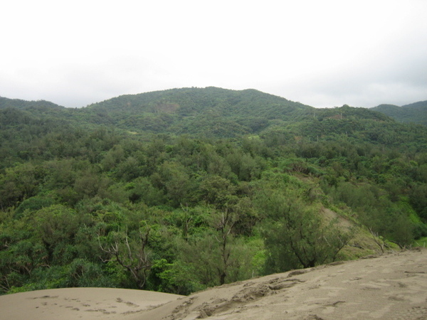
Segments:
[[[122,95],[82,112],[135,132],[236,137],[260,132],[274,119],[297,119],[307,110],[312,107],[257,90],[193,87]]]

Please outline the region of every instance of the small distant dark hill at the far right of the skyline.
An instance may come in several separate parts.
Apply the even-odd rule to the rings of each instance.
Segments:
[[[399,107],[397,105],[379,105],[371,108],[394,118],[397,122],[413,122],[427,126],[427,101],[420,101]]]

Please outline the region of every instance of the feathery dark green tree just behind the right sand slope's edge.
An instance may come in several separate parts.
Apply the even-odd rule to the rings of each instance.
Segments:
[[[333,262],[352,238],[349,230],[340,230],[333,221],[325,223],[292,186],[285,193],[270,191],[258,203],[268,218],[263,232],[268,273]]]

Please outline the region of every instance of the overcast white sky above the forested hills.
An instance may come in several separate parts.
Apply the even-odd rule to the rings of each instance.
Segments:
[[[426,0],[0,3],[0,96],[83,107],[174,87],[313,107],[427,100]]]

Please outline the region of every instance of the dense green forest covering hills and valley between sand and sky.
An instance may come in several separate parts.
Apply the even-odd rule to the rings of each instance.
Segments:
[[[189,294],[422,243],[427,127],[376,110],[216,87],[0,97],[0,292]]]

